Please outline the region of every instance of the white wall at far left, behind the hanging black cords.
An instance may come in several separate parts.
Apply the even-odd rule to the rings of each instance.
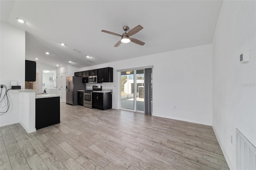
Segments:
[[[0,84],[10,89],[10,81],[18,81],[22,89],[25,88],[25,31],[13,27],[6,22],[0,23]],[[19,122],[19,94],[9,93],[10,110],[0,116],[0,126]],[[6,107],[0,108],[6,111]]]

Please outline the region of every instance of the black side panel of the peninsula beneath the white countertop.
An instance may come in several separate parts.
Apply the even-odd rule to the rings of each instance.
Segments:
[[[60,123],[60,97],[36,99],[36,129]]]

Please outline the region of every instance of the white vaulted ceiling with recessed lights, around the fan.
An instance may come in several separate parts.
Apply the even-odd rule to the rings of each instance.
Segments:
[[[212,43],[221,5],[218,0],[1,0],[0,15],[1,21],[26,31],[26,59],[81,68]],[[120,37],[101,32],[122,34],[123,26],[139,24],[144,29],[132,38],[143,46],[130,42],[114,47]]]

